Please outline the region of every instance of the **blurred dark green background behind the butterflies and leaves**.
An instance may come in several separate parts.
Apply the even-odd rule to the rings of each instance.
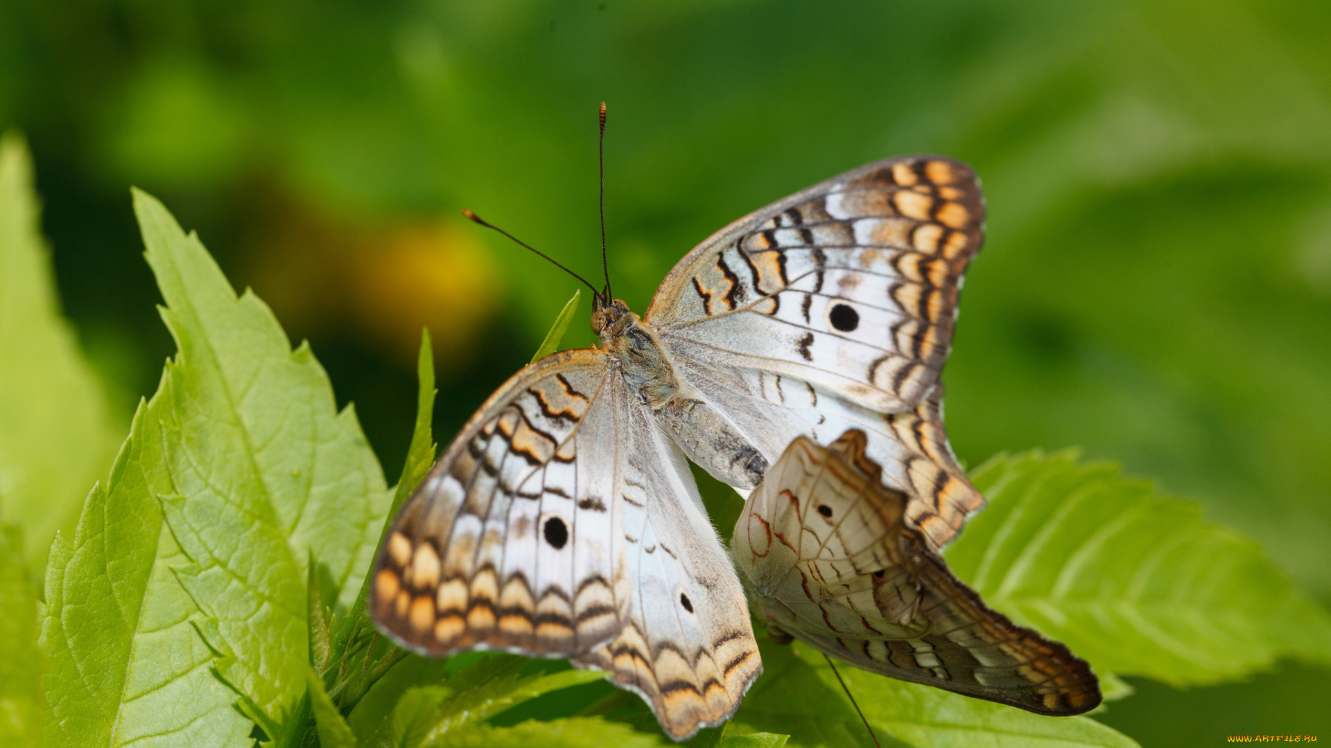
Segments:
[[[421,325],[443,441],[599,272],[616,295],[869,160],[938,152],[989,238],[946,371],[972,465],[1081,445],[1197,498],[1331,602],[1331,5],[5,0],[63,303],[128,418],[173,350],[128,185],[309,338],[401,465]],[[587,315],[586,303],[578,319]],[[566,346],[592,341],[575,323]],[[390,475],[393,478],[393,475]],[[1331,737],[1331,672],[1139,693],[1145,745]]]

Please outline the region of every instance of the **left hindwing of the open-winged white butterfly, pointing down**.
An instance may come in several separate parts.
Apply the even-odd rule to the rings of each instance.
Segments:
[[[684,740],[729,719],[763,669],[744,590],[679,447],[636,406],[624,409],[628,623],[575,664],[611,672]]]

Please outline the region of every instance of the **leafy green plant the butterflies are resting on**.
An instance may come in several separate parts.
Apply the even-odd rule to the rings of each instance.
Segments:
[[[12,221],[31,213],[31,177],[17,141],[0,153],[0,221]],[[642,701],[599,673],[511,655],[434,661],[377,634],[365,612],[370,558],[435,454],[429,335],[411,447],[390,488],[309,346],[293,350],[264,302],[237,295],[160,202],[136,192],[134,210],[178,353],[140,403],[72,538],[52,544],[44,604],[19,531],[0,532],[0,739],[666,744]],[[3,262],[39,253],[32,230],[0,242]],[[29,313],[48,327],[56,318],[51,305]],[[558,345],[570,315],[566,307],[543,349]],[[29,365],[71,366],[55,357]],[[72,439],[77,414],[61,418]],[[1067,453],[996,458],[974,479],[990,506],[949,550],[950,563],[993,607],[1091,661],[1110,697],[1130,691],[1113,673],[1202,684],[1280,657],[1331,661],[1331,616],[1254,543],[1205,522],[1191,503]],[[713,516],[733,516],[733,492],[716,488],[707,490]],[[765,673],[736,719],[691,744],[872,744],[820,656],[799,644],[761,647]],[[844,675],[888,744],[1135,745],[1090,717],[1041,717]]]

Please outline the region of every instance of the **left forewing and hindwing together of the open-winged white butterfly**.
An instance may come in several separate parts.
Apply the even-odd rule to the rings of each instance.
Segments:
[[[684,457],[603,351],[547,357],[480,407],[395,518],[370,610],[421,654],[607,669],[680,740],[761,672]]]

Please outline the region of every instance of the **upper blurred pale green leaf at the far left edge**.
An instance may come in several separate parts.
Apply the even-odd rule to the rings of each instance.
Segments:
[[[0,137],[0,518],[24,528],[41,574],[57,530],[73,531],[88,487],[114,457],[97,377],[60,317],[41,240],[32,161]]]

